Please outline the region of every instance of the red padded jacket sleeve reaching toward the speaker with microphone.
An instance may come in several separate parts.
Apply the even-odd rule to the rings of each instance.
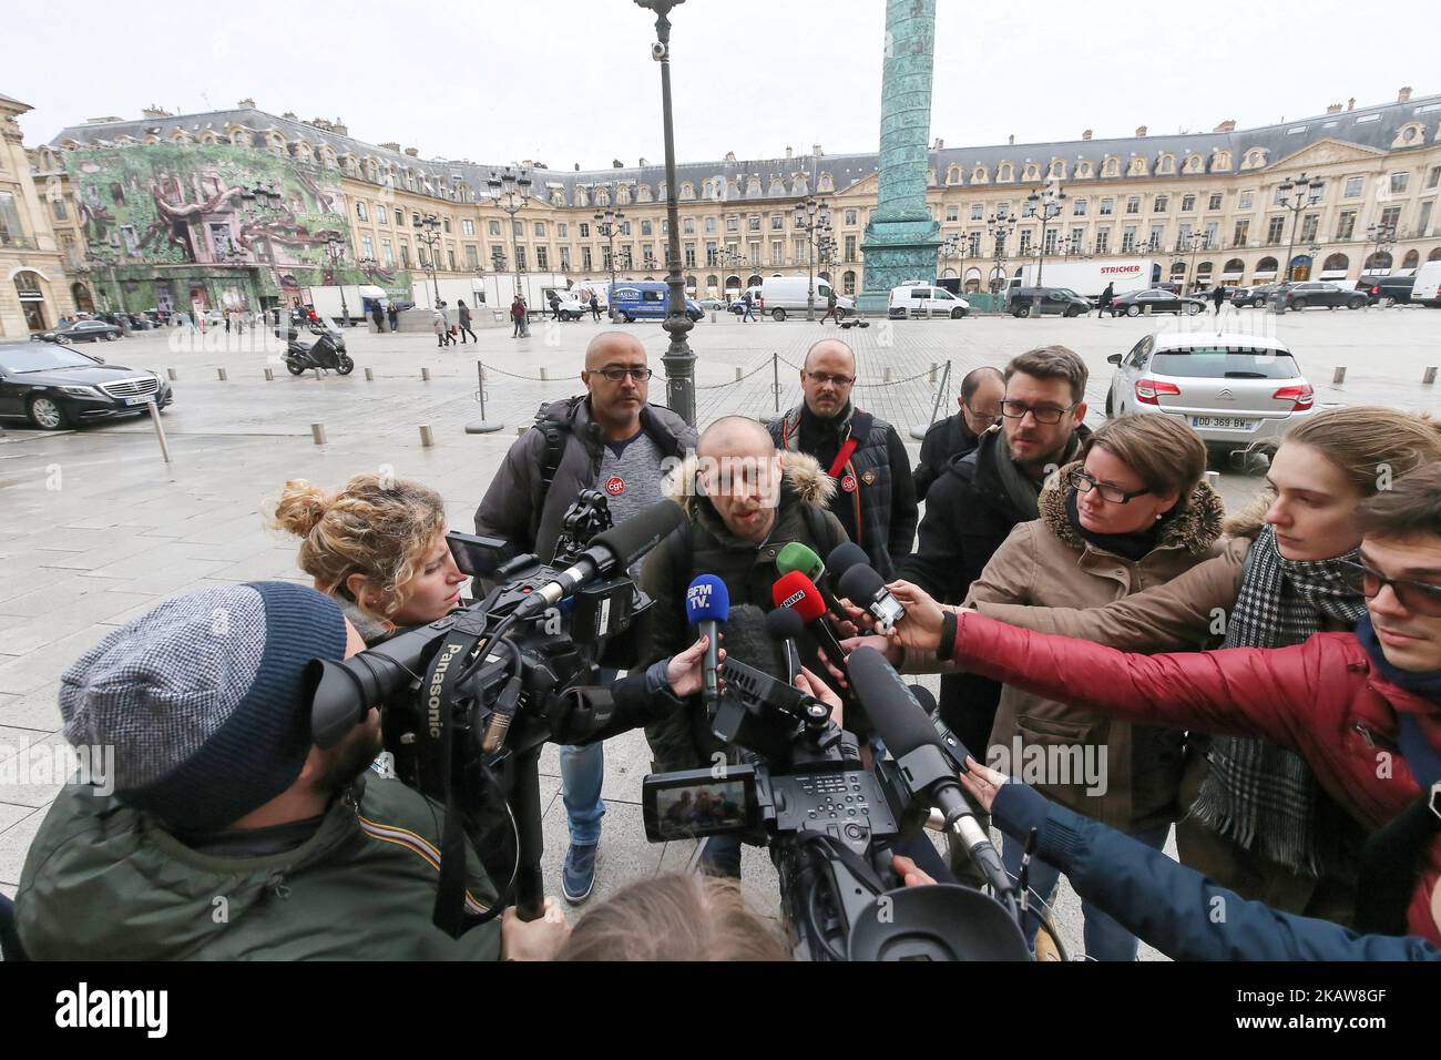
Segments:
[[[1297,748],[1314,724],[1316,656],[1307,645],[1134,655],[1035,633],[967,611],[955,661],[971,673],[1124,721],[1259,736]]]

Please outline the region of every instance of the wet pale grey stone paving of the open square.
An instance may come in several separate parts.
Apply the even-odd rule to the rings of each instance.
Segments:
[[[1205,322],[1216,326],[1210,316]],[[1395,307],[1277,317],[1228,309],[1223,322],[1267,329],[1288,342],[1316,388],[1319,407],[1441,405],[1438,387],[1421,382],[1424,369],[1441,361],[1438,313]],[[739,324],[722,313],[715,323],[708,316],[690,333],[697,412],[703,425],[723,414],[765,417],[777,405],[795,404],[795,366],[806,348],[839,335],[857,353],[857,404],[895,423],[912,456],[919,443],[909,438],[909,428],[929,421],[947,362],[951,375],[940,395],[941,415],[954,411],[967,371],[1001,366],[1025,349],[1049,343],[1075,349],[1089,365],[1088,418],[1095,425],[1104,418],[1111,379],[1105,358],[1124,353],[1148,330],[1174,326],[1202,324],[973,317],[872,320],[866,329],[840,332],[834,324],[798,320]],[[0,434],[0,759],[29,744],[63,743],[59,675],[115,626],[169,596],[206,586],[304,580],[295,568],[298,542],[268,531],[262,518],[265,500],[278,496],[287,479],[333,487],[357,472],[391,469],[435,487],[445,498],[450,525],[470,531],[476,503],[516,428],[532,421],[542,399],[579,392],[575,376],[585,343],[605,327],[536,323],[530,337],[513,339],[509,326],[477,326],[478,343],[447,349],[438,349],[428,330],[375,335],[354,327],[347,343],[357,368],[347,378],[293,378],[275,350],[235,348],[233,336],[232,348],[222,348],[223,332],[205,340],[141,332],[86,348],[115,363],[174,371],[176,401],[161,417],[171,463],[161,460],[146,418],[62,433],[6,424]],[[664,401],[666,333],[659,324],[623,327],[646,345],[657,369],[651,398]],[[480,418],[477,361],[488,368],[486,414],[504,423],[496,434],[464,433],[467,423]],[[1331,381],[1339,366],[1347,374],[1337,385]],[[267,368],[272,381],[265,379]],[[225,381],[218,378],[222,369]],[[323,425],[324,444],[313,440],[313,424]],[[421,427],[429,427],[434,446],[422,446]],[[1244,503],[1259,485],[1257,476],[1229,469],[1221,476],[1228,506]],[[684,867],[690,857],[689,844],[660,847],[644,839],[638,799],[648,748],[641,734],[608,741],[605,757],[608,813],[597,897],[637,875]],[[542,757],[542,772],[545,875],[555,893],[566,842],[555,748]],[[13,896],[26,848],[59,786],[61,780],[0,783],[0,891]],[[748,891],[758,907],[774,910],[774,873],[764,851],[748,848],[745,857]],[[1079,948],[1079,914],[1069,893],[1061,898],[1061,919],[1068,943]],[[1156,956],[1144,948],[1143,955]]]

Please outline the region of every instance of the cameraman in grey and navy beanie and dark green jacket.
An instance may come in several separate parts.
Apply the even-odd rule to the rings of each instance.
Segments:
[[[460,939],[431,923],[441,808],[366,766],[370,711],[310,736],[303,673],[360,650],[340,606],[291,583],[206,588],[110,633],[62,675],[75,746],[114,748],[104,786],[61,792],[16,894],[39,959],[545,956],[559,911]],[[114,787],[114,795],[104,795]],[[496,898],[470,858],[467,909]]]

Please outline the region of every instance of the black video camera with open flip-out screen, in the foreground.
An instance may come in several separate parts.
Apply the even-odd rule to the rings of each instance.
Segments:
[[[865,769],[856,737],[791,684],[800,617],[746,611],[759,614],[728,616],[723,686],[709,707],[716,738],[744,748],[739,761],[647,776],[647,838],[735,835],[767,847],[798,959],[1029,960],[1014,890],[974,816],[964,844],[997,897],[960,884],[905,888],[892,870],[898,839],[967,816],[961,743],[882,656],[857,649],[850,684],[892,753]],[[941,796],[947,783],[955,792]]]

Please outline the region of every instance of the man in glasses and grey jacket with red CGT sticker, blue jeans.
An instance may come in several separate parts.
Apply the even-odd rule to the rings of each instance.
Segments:
[[[586,392],[540,408],[535,427],[510,447],[476,509],[476,532],[548,561],[565,511],[581,490],[604,493],[615,522],[663,500],[663,472],[695,449],[696,430],[648,402],[650,376],[646,348],[633,335],[601,332],[591,339],[581,372]],[[640,577],[640,564],[631,577]],[[595,883],[605,813],[601,744],[562,747],[561,779],[571,823],[561,891],[581,903]]]

